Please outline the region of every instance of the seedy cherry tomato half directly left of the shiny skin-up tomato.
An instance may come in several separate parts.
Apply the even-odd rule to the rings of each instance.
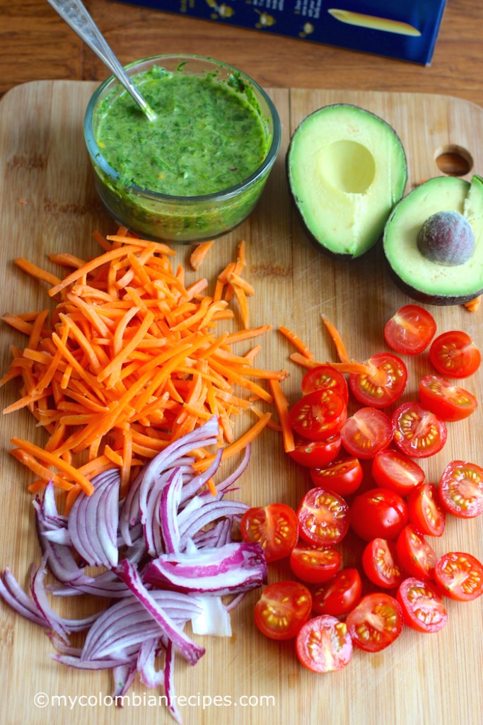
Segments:
[[[310,489],[297,510],[300,535],[308,544],[332,546],[349,528],[349,507],[345,500],[325,489]]]

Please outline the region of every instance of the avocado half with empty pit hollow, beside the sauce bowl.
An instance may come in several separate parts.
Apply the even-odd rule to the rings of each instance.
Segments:
[[[306,232],[324,251],[359,257],[403,196],[403,144],[382,118],[335,104],[308,115],[290,140],[287,177]]]

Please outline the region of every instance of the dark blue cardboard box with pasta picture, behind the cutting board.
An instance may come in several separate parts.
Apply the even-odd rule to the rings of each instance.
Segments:
[[[119,0],[429,65],[445,0]]]

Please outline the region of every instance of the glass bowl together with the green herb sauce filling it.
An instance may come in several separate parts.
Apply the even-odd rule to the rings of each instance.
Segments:
[[[85,141],[107,209],[153,239],[201,241],[235,228],[280,146],[272,101],[242,72],[203,57],[155,57],[127,71],[156,120],[113,78],[93,95]]]

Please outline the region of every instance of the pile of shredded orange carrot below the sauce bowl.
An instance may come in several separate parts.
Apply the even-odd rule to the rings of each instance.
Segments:
[[[94,237],[104,252],[93,260],[49,255],[73,270],[64,278],[15,260],[49,283],[56,307],[2,318],[28,336],[24,349],[12,348],[12,363],[0,381],[22,381],[20,399],[4,413],[26,407],[48,434],[43,447],[12,439],[12,454],[37,476],[30,492],[50,480],[67,492],[66,511],[78,492],[92,493],[93,476],[113,466],[119,467],[125,494],[140,466],[212,415],[219,416],[222,460],[239,452],[267,424],[277,427],[270,423],[272,412],[256,402],[272,404],[273,390],[280,402],[278,384],[286,375],[253,367],[259,346],[244,355],[232,349],[270,329],[248,326],[254,290],[243,278],[245,242],[209,294],[205,278],[185,285],[185,270],[182,265],[173,270],[175,252],[167,245],[125,229]],[[209,247],[203,243],[193,250],[193,269]],[[242,326],[220,333],[219,320],[235,316],[232,298]],[[232,419],[246,410],[256,422],[237,439]],[[197,450],[196,468],[206,470],[213,459]]]

